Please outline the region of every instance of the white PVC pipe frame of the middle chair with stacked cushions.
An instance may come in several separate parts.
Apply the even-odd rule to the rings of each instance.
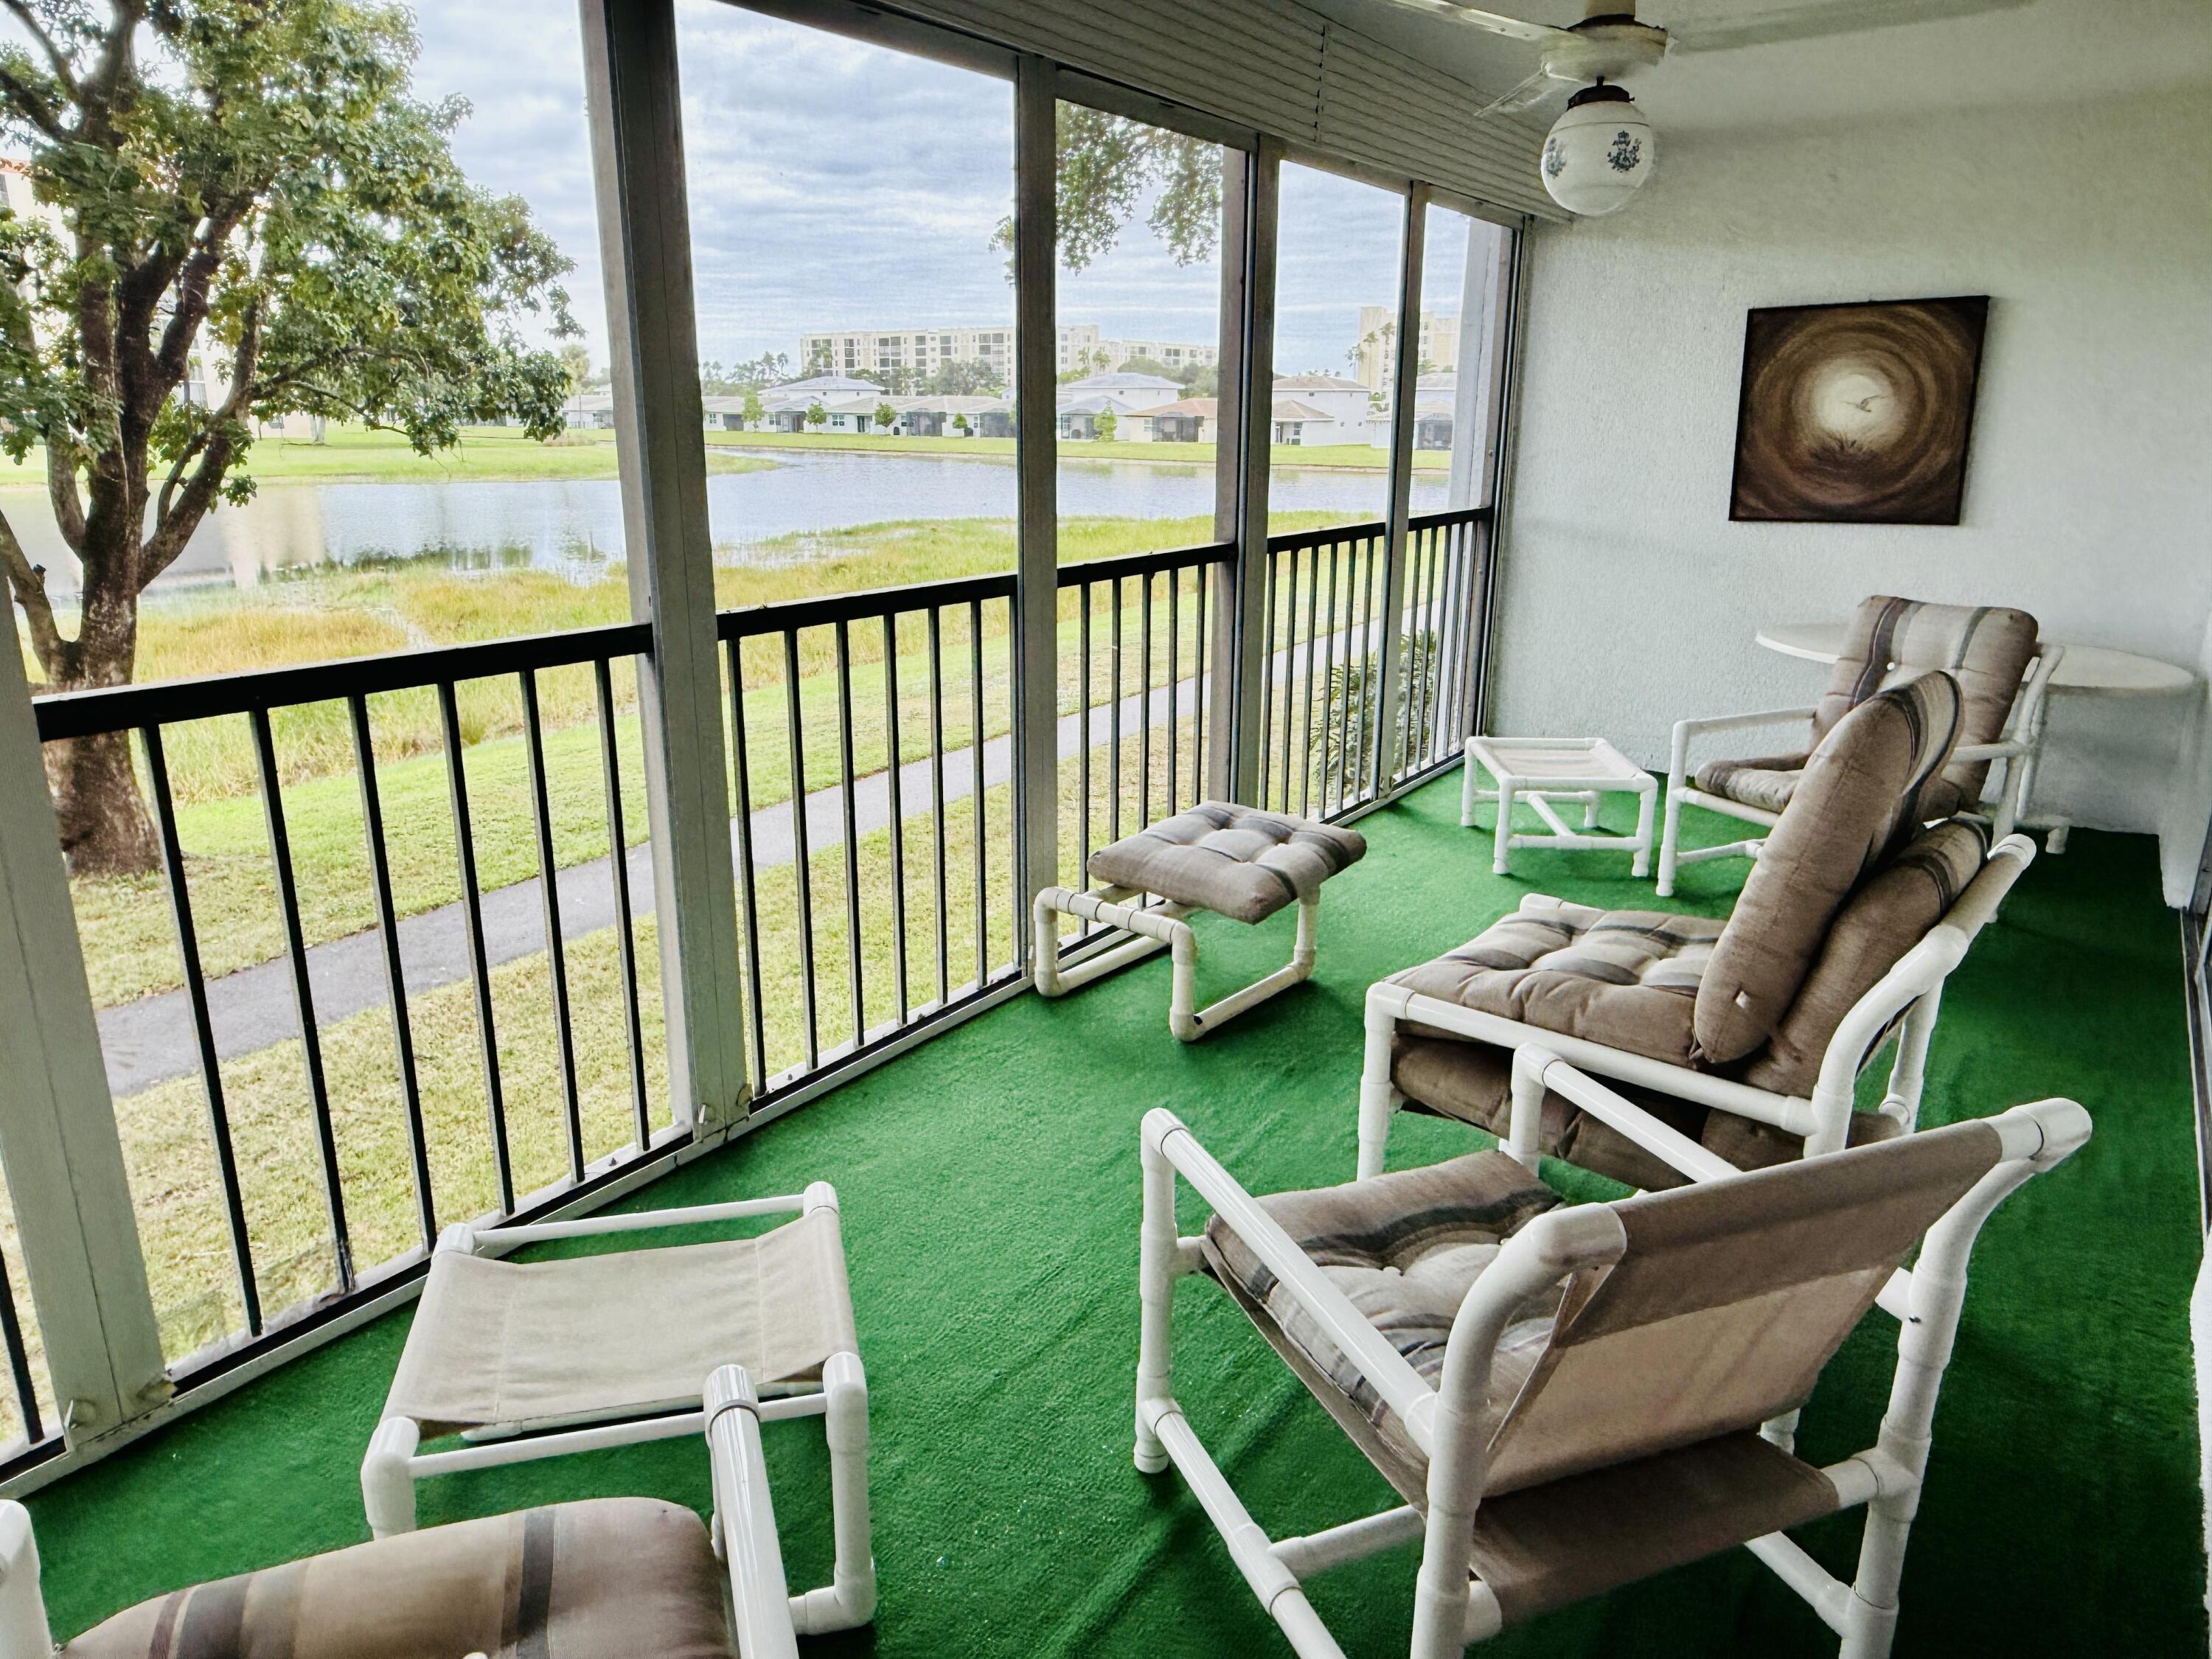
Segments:
[[[1942,1011],[1944,980],[1966,960],[1966,949],[1997,914],[1997,905],[2004,902],[2013,883],[2020,880],[2020,872],[2033,858],[2035,843],[2020,834],[2006,836],[1991,849],[1980,874],[1966,883],[1942,920],[1898,958],[1896,967],[1845,1013],[1836,1026],[1836,1035],[1827,1042],[1827,1051],[1820,1055],[1820,1071],[1812,1095],[1776,1095],[1732,1077],[1674,1066],[1666,1060],[1613,1048],[1588,1037],[1571,1037],[1522,1020],[1462,1009],[1458,1002],[1418,995],[1391,980],[1371,984],[1367,987],[1367,1057],[1360,1071],[1358,1175],[1383,1172],[1391,1119],[1405,1106],[1405,1095],[1398,1093],[1391,1079],[1400,1024],[1429,1026],[1447,1031],[1453,1037],[1486,1042],[1506,1051],[1540,1044],[1601,1077],[1615,1077],[1697,1106],[1734,1113],[1754,1124],[1772,1124],[1787,1135],[1798,1135],[1805,1139],[1805,1157],[1843,1150],[1851,1130],[1858,1071],[1878,1046],[1878,1037],[1896,1024],[1898,1051],[1889,1066],[1889,1088],[1880,1113],[1911,1130],[1920,1121],[1929,1037]],[[1546,902],[1557,900],[1531,896],[1522,900],[1522,907]]]

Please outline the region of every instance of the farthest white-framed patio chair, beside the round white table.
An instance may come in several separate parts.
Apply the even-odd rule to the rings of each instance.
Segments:
[[[1900,679],[1944,670],[1964,690],[1958,748],[1942,776],[1920,796],[1927,818],[1975,812],[1989,785],[1989,763],[2004,761],[2004,783],[1991,810],[1995,841],[2013,834],[2028,801],[2044,730],[2044,697],[2064,646],[2035,641],[2035,617],[2000,606],[1922,604],[1878,593],[1860,599],[1845,628],[1843,655],[1816,708],[1674,721],[1668,763],[1666,827],[1659,838],[1659,898],[1672,898],[1677,865],[1705,858],[1756,858],[1761,838],[1721,847],[1683,847],[1681,810],[1701,805],[1745,823],[1774,825],[1805,779],[1812,750],[1845,714]],[[1703,732],[1812,721],[1805,748],[1752,761],[1705,761],[1690,772],[1690,741]]]

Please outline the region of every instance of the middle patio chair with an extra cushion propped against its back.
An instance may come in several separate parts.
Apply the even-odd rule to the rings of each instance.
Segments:
[[[1958,681],[1933,672],[1836,721],[1725,925],[1528,896],[1369,987],[1358,1172],[1383,1172],[1405,1104],[1504,1135],[1524,1042],[1736,1168],[1911,1130],[1944,978],[2035,856],[2026,836],[1989,849],[1966,818],[1918,830],[1958,719]],[[1889,1093],[1856,1113],[1858,1073],[1891,1035]],[[1542,1146],[1628,1186],[1681,1179],[1557,1095]]]

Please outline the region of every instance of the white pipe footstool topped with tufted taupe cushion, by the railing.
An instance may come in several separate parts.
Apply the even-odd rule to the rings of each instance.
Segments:
[[[1093,891],[1046,887],[1037,894],[1035,984],[1057,998],[1157,951],[1172,951],[1168,1031],[1197,1042],[1214,1026],[1265,1002],[1314,971],[1321,885],[1367,856],[1356,830],[1265,812],[1232,801],[1201,801],[1188,812],[1146,825],[1091,854]],[[1157,902],[1146,902],[1152,894]],[[1263,922],[1285,905],[1298,907],[1290,962],[1208,1009],[1197,1006],[1199,940],[1183,918],[1194,909],[1237,922]],[[1128,933],[1088,962],[1060,967],[1057,916]]]

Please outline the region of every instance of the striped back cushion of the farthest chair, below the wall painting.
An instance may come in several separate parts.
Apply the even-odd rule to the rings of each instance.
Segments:
[[[1812,717],[1814,743],[1836,721],[1900,679],[1931,668],[1949,672],[1964,699],[1960,743],[1995,743],[2004,737],[2020,679],[2035,659],[2037,624],[2026,611],[2006,606],[1924,604],[1876,593],[1858,602],[1845,628],[1843,655]],[[1929,803],[1931,818],[1971,807],[1982,799],[1986,761],[1944,770],[1949,801]]]

